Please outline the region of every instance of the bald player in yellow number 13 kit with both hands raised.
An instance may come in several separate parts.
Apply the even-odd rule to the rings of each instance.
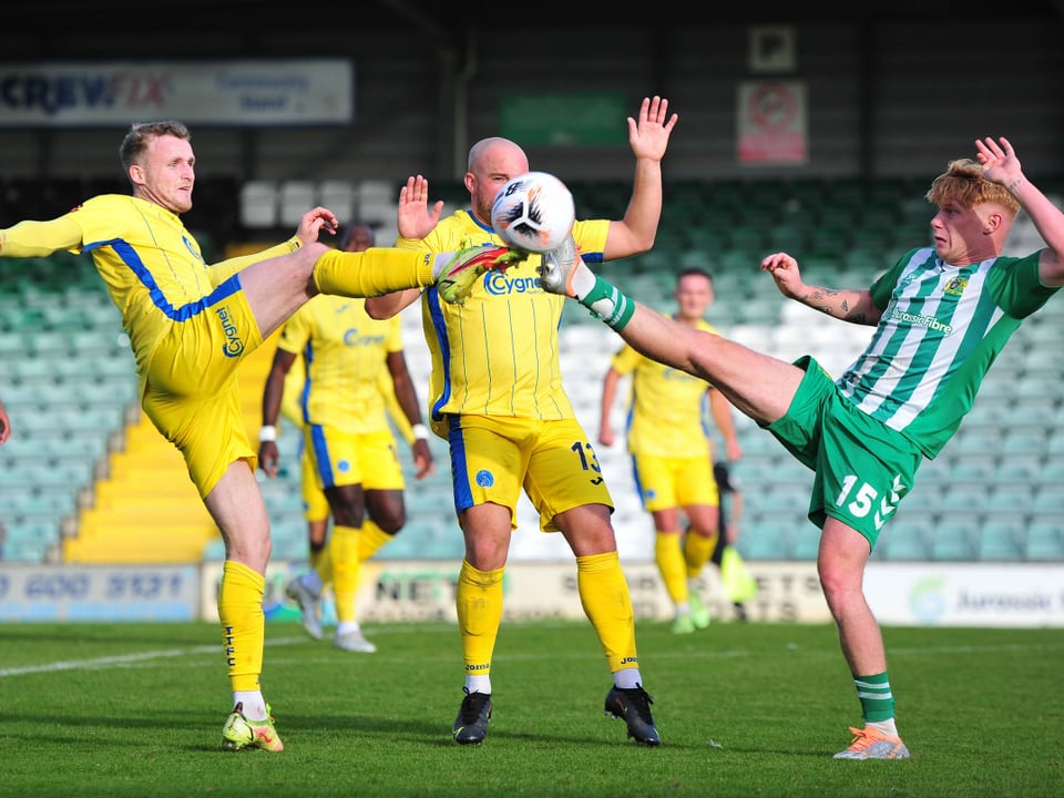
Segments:
[[[653,246],[662,213],[661,161],[676,120],[658,96],[645,98],[638,116],[627,119],[636,161],[632,197],[622,219],[576,222],[573,235],[585,257],[598,263]],[[492,202],[511,177],[529,171],[528,155],[508,139],[483,139],[470,149],[467,168],[470,207],[442,221],[442,202],[429,208],[428,182],[420,175],[407,180],[399,195],[397,246],[440,252],[467,242],[499,243]],[[463,745],[487,735],[503,572],[523,489],[540,514],[540,528],[561,531],[576,560],[581,604],[613,682],[606,713],[625,719],[630,737],[657,745],[631,594],[610,521],[613,500],[562,386],[557,327],[564,303],[541,289],[539,260],[533,255],[504,274],[485,275],[463,305],[440,301],[437,290],[367,303],[383,318],[422,299],[432,352],[430,423],[450,446],[454,511],[466,542],[456,590],[466,697],[451,730]]]

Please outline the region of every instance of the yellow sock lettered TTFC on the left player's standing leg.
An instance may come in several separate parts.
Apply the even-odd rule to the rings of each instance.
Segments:
[[[266,642],[265,590],[266,579],[260,573],[243,563],[225,561],[218,590],[218,620],[234,693],[259,688]]]

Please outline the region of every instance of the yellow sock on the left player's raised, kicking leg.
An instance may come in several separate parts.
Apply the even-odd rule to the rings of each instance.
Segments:
[[[436,255],[372,248],[360,253],[330,249],[314,265],[314,283],[323,294],[369,297],[432,285]]]

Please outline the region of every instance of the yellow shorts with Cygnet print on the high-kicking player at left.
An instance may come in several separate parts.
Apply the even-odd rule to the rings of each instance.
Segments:
[[[144,367],[144,412],[185,458],[201,498],[235,460],[247,460],[253,471],[257,464],[236,370],[262,342],[258,323],[237,289],[175,320]]]

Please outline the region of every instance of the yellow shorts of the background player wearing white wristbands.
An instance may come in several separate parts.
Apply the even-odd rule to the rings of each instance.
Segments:
[[[390,429],[348,432],[309,424],[306,442],[321,490],[361,484],[366,490],[402,490],[406,482]]]

